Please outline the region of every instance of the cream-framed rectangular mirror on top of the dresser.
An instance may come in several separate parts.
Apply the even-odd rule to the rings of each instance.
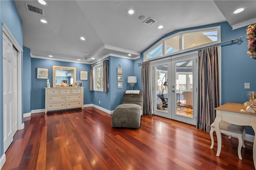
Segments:
[[[66,66],[52,66],[53,70],[53,84],[60,85],[65,82],[66,84],[76,83],[76,67],[66,67]]]

